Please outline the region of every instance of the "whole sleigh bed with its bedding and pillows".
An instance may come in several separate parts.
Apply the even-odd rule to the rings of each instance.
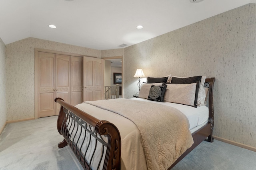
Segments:
[[[88,170],[171,169],[206,138],[213,142],[215,78],[204,77],[202,81],[203,76],[197,76],[196,79],[193,77],[194,83],[191,83],[191,78],[188,79],[173,76],[169,83],[153,85],[159,82],[148,78],[145,87],[150,86],[152,98],[147,92],[148,98],[143,97],[143,90],[146,88],[141,89],[140,98],[84,102],[76,107],[56,98],[55,102],[61,105],[57,129],[64,137],[58,147],[69,145],[84,169]],[[196,91],[196,98],[192,103],[190,101],[191,104],[182,103],[182,95],[178,96],[180,99],[175,97],[175,93],[180,92],[180,87],[183,89],[181,93],[189,96],[189,93],[184,93],[184,87],[187,86]],[[203,86],[204,91],[200,86]],[[159,87],[162,90],[160,94],[165,95],[154,98]],[[199,95],[200,90],[205,93],[205,99]],[[202,103],[207,101],[207,105],[204,102],[199,106],[199,98]],[[156,102],[157,100],[161,102]],[[175,113],[172,114],[175,116],[170,115],[168,118],[170,113],[160,110],[162,108],[174,110]],[[155,116],[149,118],[146,114]],[[158,114],[163,114],[163,117]],[[162,132],[164,133],[160,134]],[[157,146],[152,146],[154,143]]]

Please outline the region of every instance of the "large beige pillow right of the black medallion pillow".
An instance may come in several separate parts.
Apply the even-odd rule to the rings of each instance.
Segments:
[[[172,102],[184,104],[188,106],[195,106],[196,97],[196,83],[191,84],[166,84],[166,92],[164,95],[164,102]]]

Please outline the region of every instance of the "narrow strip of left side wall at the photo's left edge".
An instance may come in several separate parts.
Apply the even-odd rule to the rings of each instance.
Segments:
[[[5,44],[0,38],[0,134],[6,124]]]

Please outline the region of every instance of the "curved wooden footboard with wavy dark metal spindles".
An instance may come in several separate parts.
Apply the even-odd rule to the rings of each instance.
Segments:
[[[120,170],[121,138],[117,127],[92,117],[61,98],[54,101],[61,105],[57,129],[64,137],[58,147],[69,145],[84,169],[90,170],[94,166],[95,169]],[[95,152],[101,152],[100,157]],[[97,162],[96,166],[93,162]]]

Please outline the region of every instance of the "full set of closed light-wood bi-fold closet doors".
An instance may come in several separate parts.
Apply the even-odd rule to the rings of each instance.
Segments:
[[[62,98],[72,105],[83,99],[83,58],[38,51],[38,117],[58,115]]]

